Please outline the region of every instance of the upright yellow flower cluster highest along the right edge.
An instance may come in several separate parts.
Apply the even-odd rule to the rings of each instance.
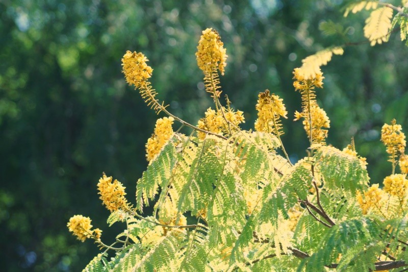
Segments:
[[[405,151],[405,134],[402,132],[401,125],[396,123],[396,120],[391,121],[391,125],[387,123],[381,128],[381,141],[387,147],[387,153],[391,156],[396,155],[396,153],[403,154]]]

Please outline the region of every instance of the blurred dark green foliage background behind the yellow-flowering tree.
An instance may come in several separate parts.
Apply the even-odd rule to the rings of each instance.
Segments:
[[[398,4],[398,3],[397,3]],[[154,112],[125,84],[120,59],[143,52],[153,86],[174,114],[196,123],[212,104],[194,53],[201,30],[219,31],[228,65],[223,93],[253,128],[257,95],[284,98],[289,116],[300,109],[292,70],[326,46],[364,40],[367,13],[342,16],[336,0],[1,0],[0,1],[0,267],[4,271],[78,271],[96,255],[92,241],[71,236],[74,214],[92,218],[106,243],[108,228],[96,183],[105,171],[134,200],[147,162],[144,144]],[[349,27],[325,36],[324,21]],[[331,120],[327,142],[339,148],[355,137],[372,183],[390,174],[379,142],[393,117],[408,132],[408,51],[390,42],[345,48],[323,67],[318,101]],[[306,155],[300,122],[284,121],[293,161]],[[175,128],[176,129],[176,128]],[[187,132],[187,131],[186,131]]]

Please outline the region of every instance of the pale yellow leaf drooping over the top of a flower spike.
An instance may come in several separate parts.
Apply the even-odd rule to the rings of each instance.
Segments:
[[[326,48],[316,54],[309,56],[302,60],[302,66],[298,72],[304,79],[312,79],[316,77],[316,73],[320,72],[320,66],[326,65],[331,60],[331,57],[335,55],[343,55],[343,48],[333,47]]]

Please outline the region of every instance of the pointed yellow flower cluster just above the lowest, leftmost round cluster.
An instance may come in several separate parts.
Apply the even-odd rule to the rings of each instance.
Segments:
[[[99,179],[98,182],[98,194],[100,194],[99,199],[102,200],[103,204],[108,210],[114,212],[121,207],[126,207],[127,201],[124,197],[126,194],[124,192],[125,187],[117,181],[112,182],[112,177],[104,176]]]

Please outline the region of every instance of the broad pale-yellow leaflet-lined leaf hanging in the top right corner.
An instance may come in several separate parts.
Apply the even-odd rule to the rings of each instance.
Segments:
[[[371,12],[364,27],[364,36],[371,42],[371,46],[388,40],[388,32],[392,27],[392,15],[393,10],[389,7],[382,7]]]

